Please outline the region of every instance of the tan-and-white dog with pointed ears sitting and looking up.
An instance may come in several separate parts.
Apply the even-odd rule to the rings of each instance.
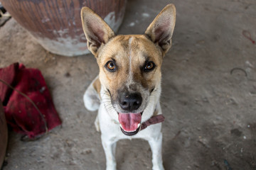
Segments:
[[[171,47],[176,22],[174,4],[156,16],[144,35],[114,35],[110,26],[87,7],[82,8],[81,18],[87,47],[100,68],[83,100],[87,110],[98,110],[95,127],[101,132],[106,169],[116,169],[117,141],[134,138],[149,142],[152,169],[164,169],[161,64]]]

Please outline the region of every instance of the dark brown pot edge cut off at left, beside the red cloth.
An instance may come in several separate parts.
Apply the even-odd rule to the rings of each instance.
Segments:
[[[4,117],[4,108],[0,101],[0,169],[4,162],[7,147],[8,130],[6,119]]]

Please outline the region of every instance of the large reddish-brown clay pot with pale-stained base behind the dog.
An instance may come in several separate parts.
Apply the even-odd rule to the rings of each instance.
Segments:
[[[92,8],[116,32],[127,0],[1,0],[11,16],[48,51],[74,56],[88,53],[80,9]]]

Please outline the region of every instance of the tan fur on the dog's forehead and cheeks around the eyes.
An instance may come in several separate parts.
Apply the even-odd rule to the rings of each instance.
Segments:
[[[131,45],[129,38],[133,38]],[[129,70],[129,57],[132,58],[132,70]],[[112,59],[116,60],[118,67],[114,73],[104,67]],[[142,72],[146,60],[156,64],[153,72]],[[117,89],[122,89],[128,78],[142,84],[145,89],[154,88],[154,84],[161,79],[161,50],[144,35],[117,35],[102,47],[97,55],[97,63],[100,67],[100,81],[110,90],[113,98],[117,98]],[[132,77],[129,77],[129,72],[132,72]]]

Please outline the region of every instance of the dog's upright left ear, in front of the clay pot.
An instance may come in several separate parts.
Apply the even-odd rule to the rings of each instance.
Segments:
[[[114,37],[114,31],[105,21],[88,7],[81,10],[82,29],[87,39],[87,47],[97,57],[99,48]]]

